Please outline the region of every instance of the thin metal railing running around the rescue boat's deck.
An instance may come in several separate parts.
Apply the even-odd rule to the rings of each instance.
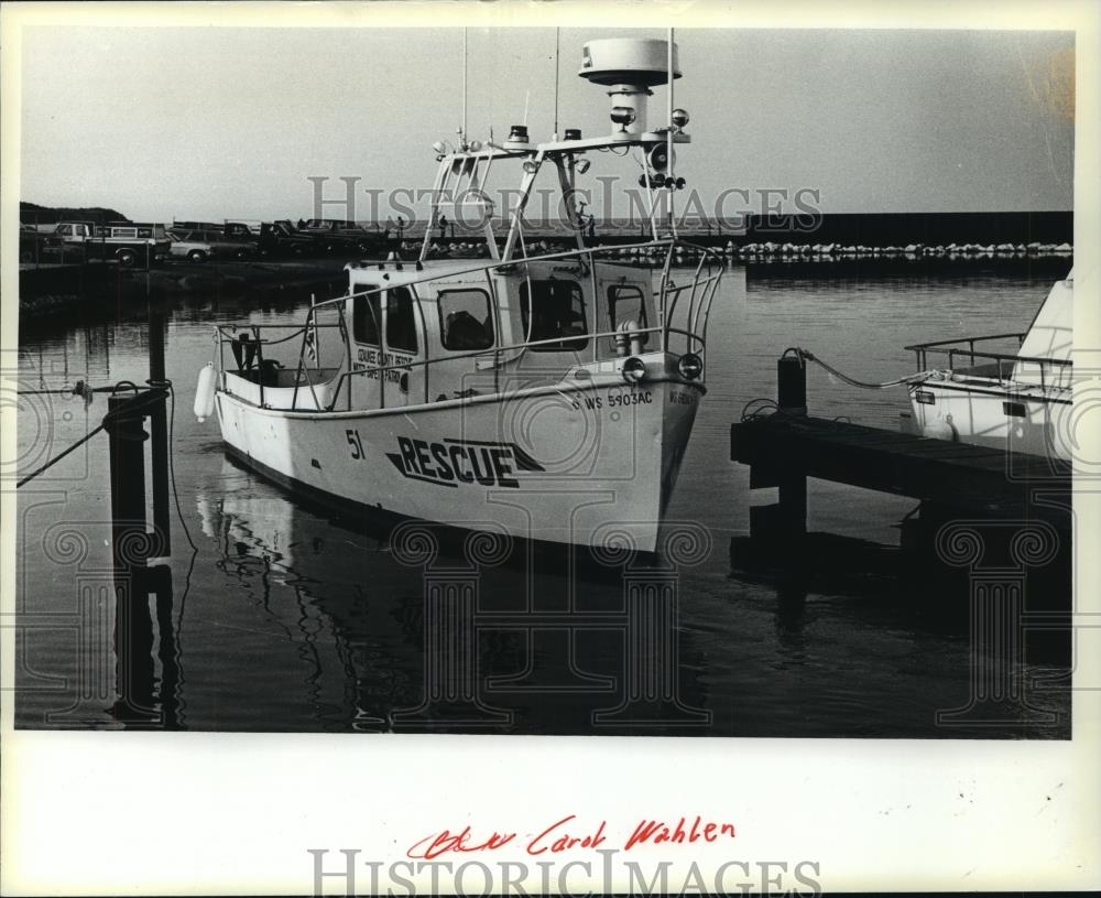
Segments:
[[[719,281],[722,277],[723,270],[723,259],[722,257],[709,249],[708,247],[698,246],[684,240],[677,239],[665,239],[657,241],[647,241],[644,244],[633,244],[625,247],[586,247],[584,249],[575,250],[564,250],[560,252],[543,253],[537,257],[520,257],[510,260],[492,259],[488,261],[480,262],[469,268],[464,268],[459,270],[448,271],[447,275],[449,278],[458,277],[461,274],[473,274],[479,272],[484,272],[487,278],[487,283],[490,289],[491,295],[493,296],[494,310],[499,307],[497,302],[495,289],[493,285],[493,280],[490,277],[490,272],[493,270],[509,270],[516,269],[521,266],[526,267],[530,262],[545,262],[545,261],[560,261],[577,259],[579,264],[585,267],[588,266],[588,271],[582,271],[581,275],[586,274],[591,281],[591,292],[593,297],[596,297],[596,283],[595,283],[595,266],[596,261],[593,257],[599,255],[610,255],[613,252],[620,252],[622,250],[631,250],[634,248],[654,248],[654,247],[665,248],[665,260],[662,266],[661,282],[654,289],[654,295],[657,300],[657,312],[662,321],[659,325],[652,327],[635,327],[631,328],[630,334],[624,335],[622,331],[603,331],[599,333],[587,333],[585,338],[589,340],[592,345],[592,361],[609,360],[608,356],[600,356],[599,347],[601,342],[608,338],[621,340],[626,336],[628,339],[631,338],[642,338],[650,334],[659,335],[662,351],[679,351],[682,355],[693,353],[700,357],[701,361],[706,365],[706,347],[707,347],[707,317],[710,312],[711,303],[713,302],[715,294],[718,289]],[[675,272],[673,269],[672,260],[674,252],[677,248],[687,248],[699,253],[698,262],[695,267],[695,271],[688,277],[684,283],[677,283],[674,280]],[[411,279],[403,280],[403,286],[408,286],[413,290],[414,295],[416,294],[416,285],[421,283],[426,283],[430,281],[438,280],[440,273],[432,269],[424,269],[421,264],[416,267],[416,275]],[[385,408],[386,399],[386,375],[391,371],[401,371],[402,374],[397,378],[399,385],[404,385],[404,390],[408,389],[408,375],[416,368],[425,369],[426,376],[424,380],[424,401],[428,402],[432,396],[430,391],[430,377],[427,372],[430,370],[432,366],[439,365],[440,363],[454,363],[457,359],[481,357],[491,359],[487,365],[488,368],[492,368],[494,371],[494,389],[499,387],[497,372],[500,371],[501,367],[509,363],[516,361],[524,353],[532,348],[538,348],[543,346],[553,346],[555,344],[562,344],[567,342],[569,337],[564,337],[562,335],[550,337],[541,340],[525,339],[517,343],[513,343],[506,346],[495,346],[489,349],[475,349],[462,353],[448,353],[446,356],[434,356],[423,359],[408,359],[402,363],[394,363],[392,365],[384,364],[385,353],[381,349],[378,355],[379,364],[370,365],[363,368],[355,368],[352,361],[352,344],[350,339],[349,328],[345,320],[345,304],[350,299],[356,297],[367,297],[371,295],[378,295],[383,293],[385,290],[390,289],[390,284],[383,284],[377,288],[371,288],[370,290],[358,291],[355,293],[347,293],[342,296],[336,296],[330,300],[325,300],[319,303],[314,303],[310,305],[309,311],[306,315],[306,321],[304,324],[250,324],[248,325],[249,331],[252,334],[252,338],[249,344],[254,347],[255,353],[255,364],[258,368],[262,368],[264,364],[263,347],[273,346],[282,343],[287,343],[295,337],[301,336],[302,343],[298,349],[297,359],[297,370],[294,377],[294,394],[291,403],[291,408],[297,408],[297,399],[299,385],[302,387],[308,387],[312,397],[314,399],[314,408],[321,408],[321,403],[318,402],[317,392],[314,389],[314,382],[305,374],[306,368],[306,350],[308,340],[312,335],[316,338],[318,328],[336,328],[340,332],[341,343],[342,343],[342,364],[340,366],[340,374],[337,378],[336,388],[333,391],[331,400],[325,407],[326,410],[331,411],[336,408],[337,401],[341,398],[344,393],[345,402],[347,408],[351,410],[351,378],[353,377],[377,377],[380,382],[379,388],[379,408]],[[417,321],[418,321],[418,335],[421,338],[421,345],[428,346],[428,332],[427,325],[424,320],[423,306],[419,302],[416,303],[418,310]],[[369,304],[368,309],[372,317],[377,315],[377,311],[373,304]],[[319,322],[317,316],[323,311],[333,310],[336,311],[338,320],[335,323]],[[675,315],[683,312],[683,323],[684,326],[674,324]],[[377,333],[382,333],[382,322],[374,321]],[[225,346],[227,344],[240,344],[239,337],[232,333],[232,331],[240,331],[243,328],[227,328],[219,325],[217,327],[219,342],[221,345],[221,370],[225,370]],[[277,339],[264,338],[261,334],[263,329],[286,329],[292,333],[286,336],[280,337]],[[235,353],[236,355],[236,353]],[[315,358],[319,358],[317,349],[315,346],[314,351]],[[260,403],[264,404],[264,378],[260,377]]]

